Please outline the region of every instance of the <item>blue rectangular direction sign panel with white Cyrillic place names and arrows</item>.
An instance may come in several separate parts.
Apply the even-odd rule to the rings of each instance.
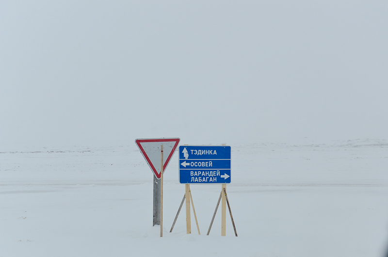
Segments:
[[[230,183],[230,146],[180,145],[179,182]]]

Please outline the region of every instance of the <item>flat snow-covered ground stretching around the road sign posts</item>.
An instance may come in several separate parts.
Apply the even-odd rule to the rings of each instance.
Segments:
[[[152,173],[135,146],[0,153],[1,256],[381,257],[388,246],[388,143],[232,146],[227,193],[191,185],[201,235],[182,209],[178,154],[164,175],[163,238],[152,226]]]

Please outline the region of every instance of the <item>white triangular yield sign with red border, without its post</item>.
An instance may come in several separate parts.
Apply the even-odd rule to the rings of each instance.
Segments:
[[[161,178],[161,145],[163,145],[163,173],[174,155],[179,138],[143,138],[136,139],[136,145],[142,152],[155,177]]]

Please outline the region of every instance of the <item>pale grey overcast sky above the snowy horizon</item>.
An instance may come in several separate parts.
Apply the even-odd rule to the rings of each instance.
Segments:
[[[0,149],[388,139],[388,1],[0,1]]]

